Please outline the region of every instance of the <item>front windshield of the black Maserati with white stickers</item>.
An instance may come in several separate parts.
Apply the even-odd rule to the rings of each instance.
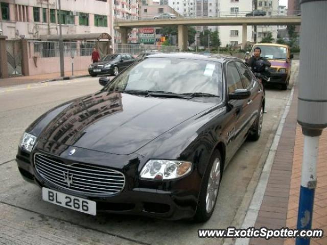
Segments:
[[[221,64],[212,61],[146,58],[127,68],[108,84],[107,91],[164,91],[221,96]]]

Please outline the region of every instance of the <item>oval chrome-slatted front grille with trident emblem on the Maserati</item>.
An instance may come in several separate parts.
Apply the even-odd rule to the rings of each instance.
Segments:
[[[34,165],[44,180],[60,188],[95,197],[119,193],[125,185],[124,175],[107,167],[85,163],[67,165],[39,153],[34,155]]]

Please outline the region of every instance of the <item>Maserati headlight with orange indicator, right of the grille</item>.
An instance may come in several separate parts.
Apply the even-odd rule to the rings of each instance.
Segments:
[[[141,171],[141,178],[150,180],[172,180],[190,173],[191,162],[171,160],[149,160]]]

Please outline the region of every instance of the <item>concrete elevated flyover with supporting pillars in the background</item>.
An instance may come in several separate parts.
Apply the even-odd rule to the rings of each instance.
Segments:
[[[127,34],[132,28],[178,26],[178,47],[181,51],[187,49],[188,26],[242,26],[242,43],[246,43],[247,26],[286,26],[300,25],[301,16],[262,16],[262,17],[197,17],[174,19],[139,19],[115,22],[115,28],[122,34],[122,43],[127,43]]]

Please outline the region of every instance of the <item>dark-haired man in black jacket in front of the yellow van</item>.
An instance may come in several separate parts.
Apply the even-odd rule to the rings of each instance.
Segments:
[[[261,48],[255,47],[253,56],[250,57],[245,63],[251,67],[254,73],[259,73],[262,76],[270,77],[270,72],[266,67],[270,67],[270,62],[265,58],[261,57]]]

